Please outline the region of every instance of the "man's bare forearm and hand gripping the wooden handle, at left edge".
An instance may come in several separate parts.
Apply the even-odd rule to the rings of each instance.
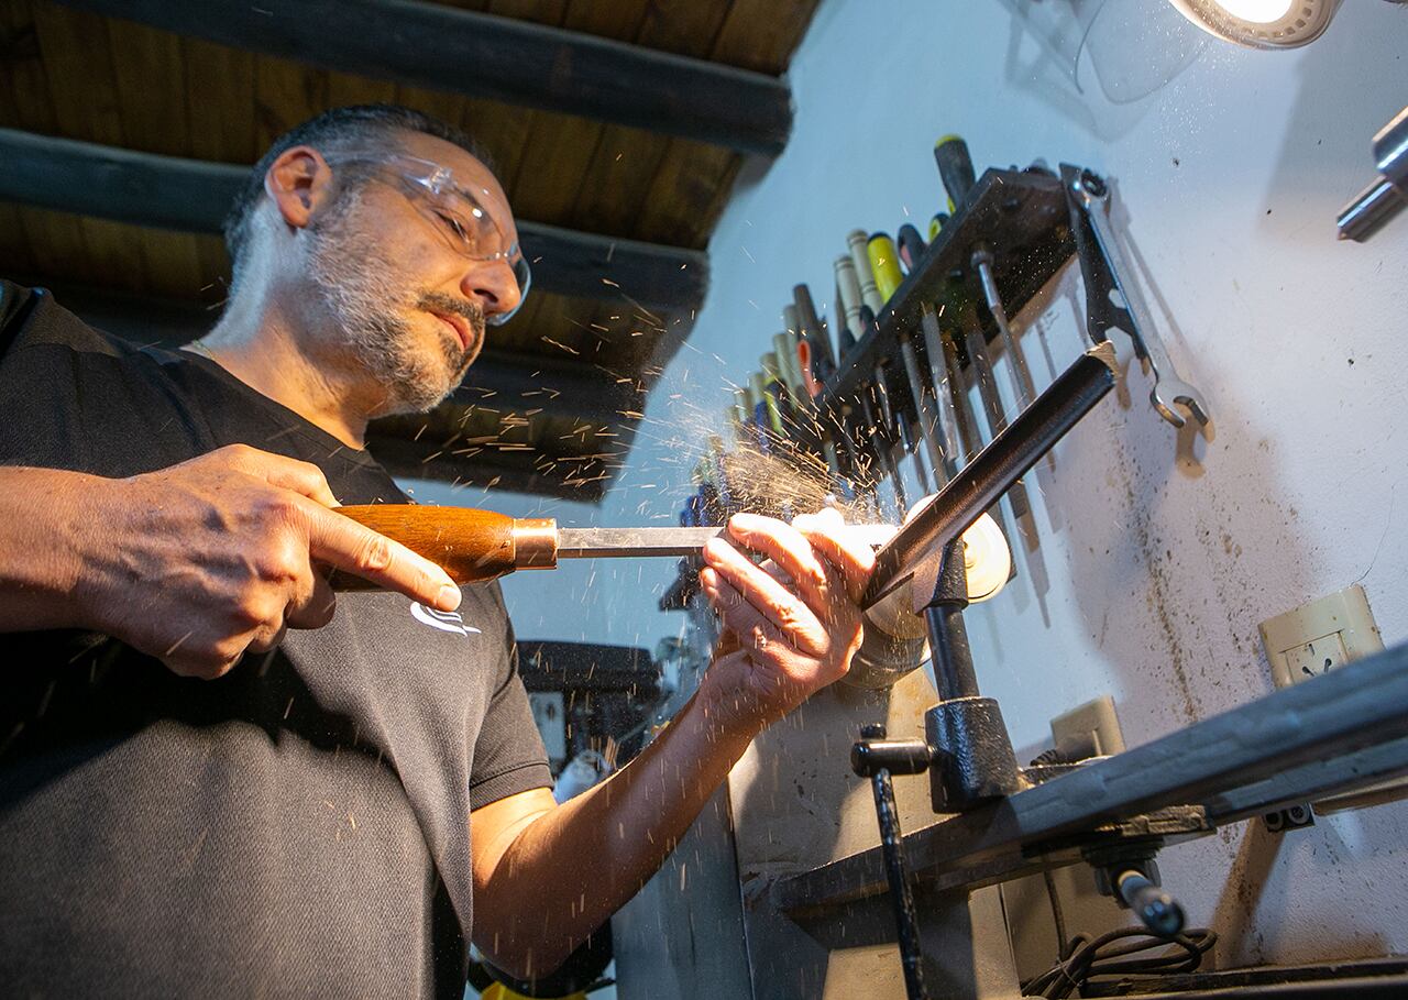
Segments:
[[[320,563],[458,604],[439,566],[335,504],[317,466],[244,445],[128,479],[0,466],[0,631],[99,631],[214,677],[327,624]]]

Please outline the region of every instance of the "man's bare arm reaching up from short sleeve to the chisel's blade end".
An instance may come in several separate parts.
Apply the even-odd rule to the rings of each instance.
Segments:
[[[752,738],[846,672],[873,554],[839,528],[839,517],[735,518],[734,535],[787,585],[711,544],[701,583],[725,644],[660,737],[563,806],[538,790],[474,810],[474,941],[491,961],[521,976],[560,965],[659,869]]]

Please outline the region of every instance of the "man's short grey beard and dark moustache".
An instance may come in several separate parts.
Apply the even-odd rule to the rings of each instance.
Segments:
[[[339,201],[308,227],[308,275],[355,363],[386,390],[369,415],[432,410],[459,386],[476,352],[462,349],[449,334],[441,337],[439,354],[427,352],[400,313],[434,307],[463,315],[477,342],[483,341],[483,313],[442,293],[408,292],[401,268],[355,223],[359,192],[342,192]]]

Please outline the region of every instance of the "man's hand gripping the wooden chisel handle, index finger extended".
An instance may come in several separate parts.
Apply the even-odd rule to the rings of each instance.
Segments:
[[[231,445],[131,479],[93,480],[77,504],[83,624],[197,677],[266,652],[286,628],[318,628],[335,599],[318,563],[444,611],[459,589],[439,566],[332,513],[322,472]]]

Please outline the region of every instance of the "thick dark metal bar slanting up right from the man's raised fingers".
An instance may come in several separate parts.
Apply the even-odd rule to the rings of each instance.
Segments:
[[[1067,368],[876,554],[876,569],[860,606],[872,607],[903,583],[914,563],[934,546],[962,535],[1114,385],[1115,352],[1108,344],[1091,348]]]

